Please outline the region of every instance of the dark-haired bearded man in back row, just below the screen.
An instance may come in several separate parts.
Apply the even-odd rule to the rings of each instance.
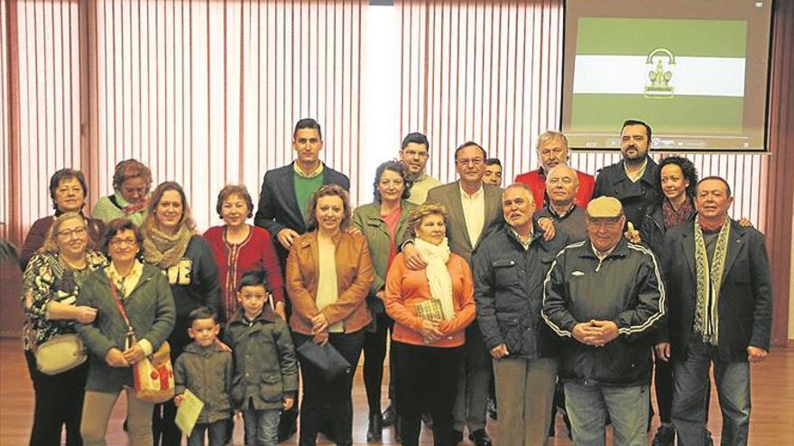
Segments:
[[[620,200],[626,221],[638,229],[653,203],[653,177],[658,166],[648,156],[650,149],[651,126],[633,119],[625,121],[621,130],[623,159],[602,168],[595,178],[593,198],[614,196]]]

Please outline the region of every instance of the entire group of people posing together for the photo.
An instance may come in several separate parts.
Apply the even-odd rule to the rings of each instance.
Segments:
[[[179,445],[174,416],[189,389],[205,404],[190,445],[205,434],[226,444],[235,411],[246,444],[286,440],[298,401],[301,445],[320,432],[350,445],[362,352],[368,442],[393,424],[417,445],[427,423],[437,446],[466,430],[490,445],[493,399],[503,445],[543,444],[557,406],[577,445],[604,444],[605,423],[615,444],[641,445],[654,374],[653,444],[706,444],[713,363],[722,441],[746,444],[749,363],[764,359],[771,331],[763,237],[728,216],[725,179],[698,179],[681,157],[657,164],[650,141],[648,124],[626,121],[623,159],[593,177],[568,167],[564,134],[545,132],[540,168],[502,189],[501,164],[474,141],[455,150],[457,181],[441,185],[425,172],[428,139],[411,133],[399,160],[377,168],[374,201],[354,208],[348,178],[319,160],[319,123],[302,119],[296,159],[265,174],[255,215],[246,188],[226,186],[224,224],[203,236],[182,187],[150,192],[134,159],[116,166],[114,194],[90,216],[86,178],[61,169],[55,213],[33,223],[21,254],[31,444],[60,444],[64,426],[70,446],[105,444],[127,389],[130,444]],[[69,332],[88,362],[40,372],[36,347]],[[152,405],[129,390],[130,366],[164,341],[176,396]],[[349,371],[328,378],[300,354],[307,342],[333,347]]]

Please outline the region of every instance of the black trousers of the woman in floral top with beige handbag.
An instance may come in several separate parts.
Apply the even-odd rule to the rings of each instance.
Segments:
[[[88,362],[58,375],[36,369],[36,357],[25,351],[33,381],[36,403],[33,410],[31,446],[60,446],[60,432],[66,426],[66,445],[82,446],[80,419],[86,395]]]

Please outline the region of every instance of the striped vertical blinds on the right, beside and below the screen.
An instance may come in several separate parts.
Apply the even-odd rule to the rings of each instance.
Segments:
[[[430,175],[456,179],[454,150],[468,140],[502,160],[505,184],[537,168],[538,135],[559,129],[563,2],[404,1],[397,7],[402,14],[400,133],[428,135]],[[615,123],[615,133],[620,125]],[[701,177],[719,175],[731,182],[734,216],[765,227],[760,185],[767,156],[688,157]],[[576,152],[570,164],[595,174],[618,160],[614,152]]]

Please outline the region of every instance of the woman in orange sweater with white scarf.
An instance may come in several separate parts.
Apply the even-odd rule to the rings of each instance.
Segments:
[[[449,251],[447,211],[425,203],[409,219],[416,248],[427,261],[412,270],[402,254],[386,278],[386,313],[394,319],[392,349],[397,370],[397,412],[402,416],[402,444],[419,444],[420,415],[429,407],[433,444],[452,444],[452,406],[464,329],[475,319],[474,281],[468,263]]]

